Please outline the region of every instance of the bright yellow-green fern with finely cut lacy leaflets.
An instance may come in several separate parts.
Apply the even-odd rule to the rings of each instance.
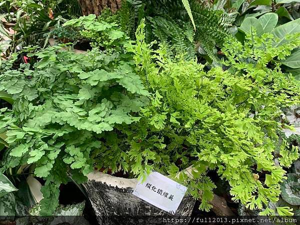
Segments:
[[[131,171],[170,174],[201,199],[200,209],[206,211],[215,187],[207,172],[214,172],[228,181],[234,201],[274,214],[268,203],[278,200],[284,168],[298,158],[297,147],[283,146],[279,157],[274,155],[276,130],[282,129],[280,108],[299,103],[300,85],[279,65],[266,65],[290,54],[300,44],[298,34],[285,36],[280,47],[272,34],[248,35],[244,44],[227,39],[223,63],[233,70],[205,72],[194,60],[173,61],[166,49],[152,50],[143,28],[136,45],[127,49],[135,54],[136,71],[152,95],[136,129],[127,132]],[[276,210],[292,214],[287,207]]]

